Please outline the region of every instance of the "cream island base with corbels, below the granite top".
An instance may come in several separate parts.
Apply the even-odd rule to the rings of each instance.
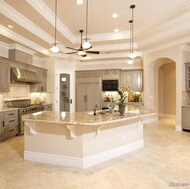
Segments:
[[[143,118],[103,125],[25,121],[24,159],[88,168],[144,146]]]

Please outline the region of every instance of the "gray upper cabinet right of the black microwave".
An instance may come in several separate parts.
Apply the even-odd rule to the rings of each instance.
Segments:
[[[120,85],[129,86],[132,91],[143,90],[142,70],[122,70]]]

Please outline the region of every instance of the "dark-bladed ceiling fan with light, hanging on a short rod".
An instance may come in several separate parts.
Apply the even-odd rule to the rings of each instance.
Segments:
[[[79,48],[79,49],[75,49],[75,48],[72,48],[72,47],[66,47],[67,49],[74,50],[74,52],[69,52],[69,53],[66,53],[66,54],[74,54],[74,53],[77,53],[78,55],[80,55],[80,56],[82,56],[82,57],[86,57],[86,56],[87,56],[87,53],[90,53],[90,54],[99,54],[100,51],[88,51],[88,50],[85,50],[85,49],[82,47],[82,33],[83,33],[83,30],[79,30],[79,32],[81,33],[81,45],[80,45],[80,48]]]

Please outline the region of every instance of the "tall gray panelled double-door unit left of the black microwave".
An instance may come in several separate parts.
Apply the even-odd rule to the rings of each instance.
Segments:
[[[76,85],[76,111],[101,109],[101,78],[78,78]]]

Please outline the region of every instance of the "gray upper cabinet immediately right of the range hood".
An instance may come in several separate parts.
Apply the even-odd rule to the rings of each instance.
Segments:
[[[39,76],[41,83],[30,85],[30,92],[46,92],[47,70],[38,68],[36,73]]]

